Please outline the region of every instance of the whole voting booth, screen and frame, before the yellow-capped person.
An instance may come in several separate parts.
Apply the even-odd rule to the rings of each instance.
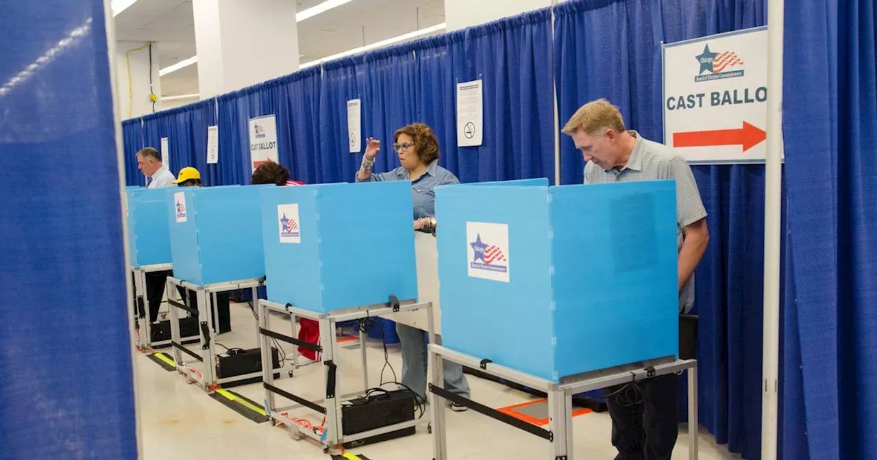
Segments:
[[[256,289],[264,285],[265,258],[262,252],[262,231],[259,192],[270,186],[227,186],[166,188],[167,216],[170,228],[170,250],[174,276],[168,278],[168,289],[184,287],[196,294],[197,305],[169,301],[171,305],[171,336],[177,371],[207,391],[217,385],[258,381],[261,372],[229,371],[231,365],[217,366],[217,331],[210,325],[217,318],[217,293]],[[178,310],[199,318],[199,352],[180,344],[176,322]],[[243,350],[246,359],[258,363],[260,349]],[[195,360],[185,361],[185,353]],[[276,353],[276,351],[274,351]],[[195,367],[193,367],[193,365]],[[269,369],[279,364],[269,364]]]

